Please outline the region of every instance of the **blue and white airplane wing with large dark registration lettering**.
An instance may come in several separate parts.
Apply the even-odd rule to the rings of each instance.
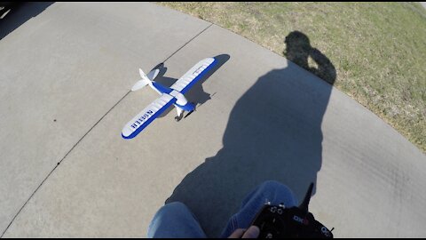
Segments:
[[[154,100],[148,107],[144,108],[137,116],[133,117],[129,123],[122,128],[122,138],[132,139],[151,124],[157,116],[160,116],[167,108],[176,101],[168,94]]]

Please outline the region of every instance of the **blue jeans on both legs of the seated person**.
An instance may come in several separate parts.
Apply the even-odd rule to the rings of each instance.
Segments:
[[[240,212],[228,221],[222,237],[230,236],[237,228],[248,228],[265,203],[284,204],[292,207],[297,204],[296,196],[278,181],[268,180],[253,190],[242,201]],[[148,228],[149,238],[205,238],[200,223],[185,204],[174,202],[162,206],[155,213]]]

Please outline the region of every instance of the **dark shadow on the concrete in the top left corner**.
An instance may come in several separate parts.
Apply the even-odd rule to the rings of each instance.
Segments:
[[[14,4],[11,12],[0,20],[0,40],[10,34],[20,25],[31,18],[36,17],[54,2],[25,2]]]

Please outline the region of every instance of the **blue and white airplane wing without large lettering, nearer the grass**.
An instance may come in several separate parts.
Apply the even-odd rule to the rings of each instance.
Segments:
[[[174,89],[182,94],[188,92],[188,90],[197,83],[202,76],[204,76],[210,68],[213,68],[217,64],[217,60],[214,58],[208,58],[199,61],[193,68],[189,69],[184,76],[180,77],[175,84],[171,85],[171,89]]]

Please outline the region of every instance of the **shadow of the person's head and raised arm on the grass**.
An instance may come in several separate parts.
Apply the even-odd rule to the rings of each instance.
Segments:
[[[311,46],[308,36],[293,31],[286,36],[284,43],[286,49],[283,54],[288,60],[326,80],[328,84],[335,84],[335,67],[324,54]]]

